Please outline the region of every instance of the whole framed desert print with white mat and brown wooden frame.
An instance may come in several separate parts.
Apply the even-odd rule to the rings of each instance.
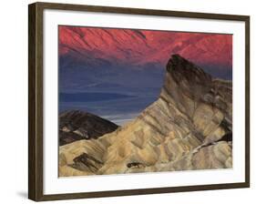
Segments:
[[[250,17],[29,5],[29,199],[250,186]]]

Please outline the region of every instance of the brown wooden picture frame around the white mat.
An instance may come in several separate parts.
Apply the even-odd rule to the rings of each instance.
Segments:
[[[236,189],[250,187],[250,16],[219,15],[166,10],[148,10],[125,7],[107,7],[94,5],[67,5],[52,3],[35,3],[28,6],[28,101],[29,101],[29,148],[28,148],[28,198],[36,201],[55,199],[85,199],[98,197],[128,196],[207,189]],[[43,12],[45,9],[90,11],[98,13],[117,13],[128,15],[178,16],[186,18],[219,19],[245,22],[245,182],[155,189],[126,189],[115,191],[80,192],[56,195],[44,195],[43,183]]]

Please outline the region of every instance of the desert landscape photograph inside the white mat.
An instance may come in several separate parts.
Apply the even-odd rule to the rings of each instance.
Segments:
[[[232,168],[229,33],[58,25],[58,176]]]

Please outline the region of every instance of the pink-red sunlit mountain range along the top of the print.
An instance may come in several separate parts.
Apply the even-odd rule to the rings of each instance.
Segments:
[[[90,66],[104,60],[116,65],[156,63],[164,67],[172,54],[200,66],[231,69],[232,36],[59,26],[59,55]]]

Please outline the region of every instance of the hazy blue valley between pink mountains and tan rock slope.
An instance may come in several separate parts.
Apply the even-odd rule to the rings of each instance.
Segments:
[[[100,74],[102,70],[98,69],[93,73],[83,69],[78,76],[74,69],[70,70],[71,74],[67,71],[62,76],[60,73],[60,77],[67,80],[63,79],[65,85],[59,87],[59,112],[80,109],[122,125],[159,97],[163,68],[138,71],[122,67],[121,74],[118,69],[104,78]],[[113,67],[109,69],[111,73]],[[72,82],[68,82],[68,78],[72,78]],[[115,83],[108,82],[111,80]]]

